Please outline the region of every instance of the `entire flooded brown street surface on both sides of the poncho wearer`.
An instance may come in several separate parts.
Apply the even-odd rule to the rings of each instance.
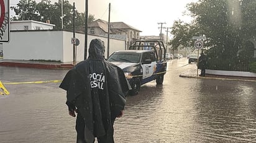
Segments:
[[[162,86],[153,81],[127,97],[116,142],[256,142],[256,82],[179,77],[196,68],[187,63],[170,61]],[[10,92],[0,95],[0,142],[75,142],[60,83],[15,84],[60,80],[66,72],[0,66]]]

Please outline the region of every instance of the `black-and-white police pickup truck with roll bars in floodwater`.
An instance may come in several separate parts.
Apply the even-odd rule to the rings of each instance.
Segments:
[[[163,84],[163,76],[167,71],[165,46],[162,41],[139,40],[129,50],[115,51],[107,61],[116,64],[124,71],[132,90],[130,95],[137,95],[140,85],[156,80]]]

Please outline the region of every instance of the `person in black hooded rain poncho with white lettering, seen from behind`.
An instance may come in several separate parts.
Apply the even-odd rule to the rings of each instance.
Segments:
[[[130,85],[124,72],[104,59],[105,47],[91,40],[89,57],[70,69],[60,88],[66,90],[69,115],[76,117],[76,142],[114,142],[114,121],[123,115]]]

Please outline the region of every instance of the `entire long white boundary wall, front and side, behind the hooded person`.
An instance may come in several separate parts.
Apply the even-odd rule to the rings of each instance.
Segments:
[[[72,32],[65,31],[30,31],[12,32],[9,43],[3,43],[4,59],[19,60],[53,60],[62,63],[73,63]],[[76,33],[80,45],[76,46],[76,61],[83,61],[85,54],[85,35]],[[107,38],[88,35],[88,46],[94,38],[104,41],[107,57]],[[125,50],[126,41],[110,38],[109,55],[117,50]],[[88,56],[88,53],[87,53]]]

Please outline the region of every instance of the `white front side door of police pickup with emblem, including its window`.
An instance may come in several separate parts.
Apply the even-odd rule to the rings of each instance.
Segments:
[[[151,59],[152,63],[142,64],[142,70],[143,70],[142,79],[152,76],[153,72],[155,71],[155,68],[157,67],[157,62],[155,61],[155,55],[152,51],[145,52],[142,54],[142,62],[145,61],[146,59]]]

